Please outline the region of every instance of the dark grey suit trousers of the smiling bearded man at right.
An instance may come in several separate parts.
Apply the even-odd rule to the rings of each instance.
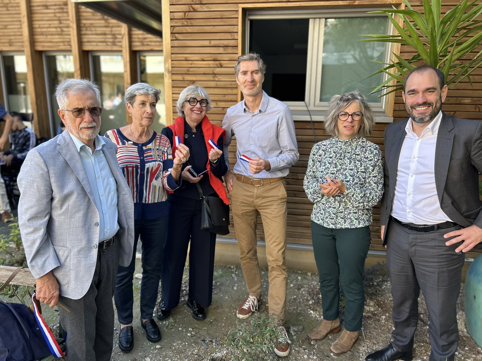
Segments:
[[[443,235],[460,226],[433,232],[415,232],[390,220],[387,265],[390,273],[395,330],[393,348],[413,348],[418,322],[418,296],[422,290],[428,309],[430,361],[453,361],[458,346],[456,302],[464,254],[458,244],[446,246]]]

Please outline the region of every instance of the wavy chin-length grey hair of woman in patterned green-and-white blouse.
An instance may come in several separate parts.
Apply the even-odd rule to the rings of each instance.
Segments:
[[[342,95],[335,95],[330,100],[330,105],[325,115],[325,130],[334,137],[339,136],[338,129],[338,114],[343,111],[348,105],[356,102],[363,113],[362,124],[358,134],[363,138],[369,136],[372,133],[375,125],[375,116],[373,114],[370,105],[366,102],[365,97],[358,90],[350,91]]]

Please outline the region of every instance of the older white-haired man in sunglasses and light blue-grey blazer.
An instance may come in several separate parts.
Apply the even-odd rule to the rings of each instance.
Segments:
[[[66,131],[32,149],[18,176],[18,220],[37,299],[57,302],[68,361],[110,360],[118,265],[134,245],[134,204],[117,146],[98,135],[100,92],[67,79],[56,90]]]

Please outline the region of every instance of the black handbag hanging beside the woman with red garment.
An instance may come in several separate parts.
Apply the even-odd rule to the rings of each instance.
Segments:
[[[229,206],[219,197],[202,193],[201,186],[196,183],[201,198],[201,230],[229,234]]]

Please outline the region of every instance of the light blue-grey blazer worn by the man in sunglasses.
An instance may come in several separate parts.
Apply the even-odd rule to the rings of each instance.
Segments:
[[[134,247],[134,203],[107,138],[104,154],[117,181],[119,264],[128,266]],[[60,294],[79,299],[94,276],[99,212],[79,152],[67,131],[28,152],[18,175],[18,222],[34,278],[53,270]]]

